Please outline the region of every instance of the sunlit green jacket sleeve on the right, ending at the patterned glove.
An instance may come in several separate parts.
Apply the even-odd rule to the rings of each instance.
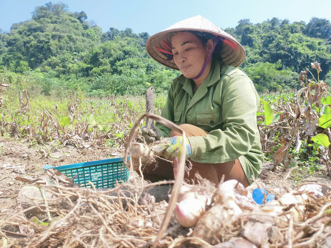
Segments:
[[[224,163],[245,155],[253,146],[257,130],[257,105],[255,87],[246,75],[221,80],[225,87],[217,93],[221,99],[223,130],[208,135],[188,137],[192,147],[192,161]],[[215,97],[215,96],[214,96]]]

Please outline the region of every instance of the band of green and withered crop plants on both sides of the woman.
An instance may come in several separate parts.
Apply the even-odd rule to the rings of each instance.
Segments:
[[[260,94],[257,113],[265,161],[274,164],[273,171],[279,166],[298,166],[294,172],[298,182],[305,174],[315,175],[322,168],[327,169],[331,135],[328,86],[318,82],[308,70],[300,76],[302,86],[307,87]],[[2,151],[5,141],[16,140],[36,147],[42,158],[57,159],[52,152],[65,146],[109,148],[120,154],[131,127],[146,109],[143,95],[99,98],[87,97],[77,90],[54,97],[41,94],[32,80],[10,84],[4,76],[1,81]],[[161,113],[165,100],[165,94],[155,96],[155,114]],[[135,139],[143,141],[139,132]]]

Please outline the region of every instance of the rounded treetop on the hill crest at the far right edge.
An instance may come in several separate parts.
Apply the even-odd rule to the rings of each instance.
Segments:
[[[313,17],[307,24],[306,34],[311,37],[329,39],[331,36],[330,20]]]

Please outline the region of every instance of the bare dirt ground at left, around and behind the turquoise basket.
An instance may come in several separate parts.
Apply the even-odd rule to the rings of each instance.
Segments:
[[[30,143],[0,140],[0,220],[4,220],[17,207],[18,191],[24,186],[24,182],[15,180],[15,177],[46,178],[47,175],[43,172],[46,164],[60,166],[121,156],[116,149],[77,149],[65,146],[50,150],[52,157],[59,157],[54,159],[39,155],[38,149],[36,146],[31,147]],[[9,165],[17,166],[18,170],[3,168]]]

